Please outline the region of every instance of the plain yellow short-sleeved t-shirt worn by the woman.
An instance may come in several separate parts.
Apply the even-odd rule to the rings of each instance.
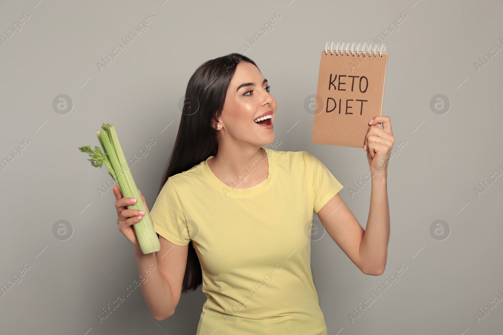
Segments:
[[[226,185],[211,156],[168,178],[150,210],[160,236],[193,241],[207,297],[197,335],[326,335],[309,232],[313,212],[343,185],[307,151],[265,151],[233,186],[269,163],[260,184]]]

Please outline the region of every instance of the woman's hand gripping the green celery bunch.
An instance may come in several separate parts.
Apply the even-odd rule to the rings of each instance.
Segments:
[[[121,190],[119,189],[119,187],[117,187],[117,185],[114,185],[113,190],[115,198],[117,199],[117,201],[115,201],[115,208],[117,209],[118,216],[117,228],[119,229],[119,232],[124,234],[129,242],[131,242],[135,247],[139,247],[140,244],[138,242],[138,239],[136,238],[136,234],[132,225],[140,221],[145,215],[145,212],[138,209],[128,209],[127,206],[134,205],[136,203],[136,199],[130,197],[122,197]],[[143,203],[145,204],[145,198],[143,197],[143,195],[141,195],[141,193],[140,196],[141,201],[143,201]],[[146,204],[145,208],[147,208]]]

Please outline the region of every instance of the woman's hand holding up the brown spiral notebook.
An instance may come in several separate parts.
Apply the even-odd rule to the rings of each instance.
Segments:
[[[379,124],[382,123],[382,128]],[[393,131],[391,130],[391,120],[389,117],[378,115],[369,122],[369,130],[365,136],[363,150],[367,151],[372,177],[376,174],[386,176],[391,149],[395,143]]]

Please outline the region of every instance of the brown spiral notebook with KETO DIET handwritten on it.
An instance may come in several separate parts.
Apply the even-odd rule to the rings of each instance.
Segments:
[[[388,53],[384,44],[339,44],[321,52],[312,143],[363,148],[369,121],[382,115]]]

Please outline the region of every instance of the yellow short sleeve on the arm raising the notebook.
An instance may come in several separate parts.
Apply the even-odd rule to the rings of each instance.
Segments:
[[[333,176],[333,174],[321,163],[313,154],[304,151],[304,159],[307,166],[307,172],[312,179],[314,192],[314,212],[318,211],[336,195],[343,185]]]

